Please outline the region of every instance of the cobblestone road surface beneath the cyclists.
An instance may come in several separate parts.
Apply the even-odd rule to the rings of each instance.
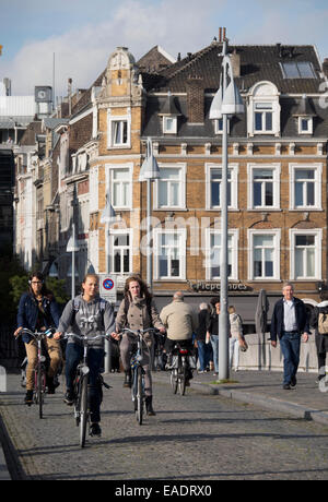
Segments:
[[[168,379],[168,374],[167,374]],[[9,375],[0,413],[27,479],[218,480],[328,479],[328,428],[222,397],[154,384],[155,417],[141,427],[122,375],[104,391],[103,435],[79,447],[79,430],[62,392],[47,396],[45,418],[24,406]],[[61,387],[62,389],[62,385]]]

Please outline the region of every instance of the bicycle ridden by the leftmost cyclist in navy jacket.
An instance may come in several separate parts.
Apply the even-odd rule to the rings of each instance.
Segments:
[[[49,328],[44,332],[33,332],[27,330],[27,327],[23,327],[20,334],[27,334],[33,336],[33,338],[37,342],[37,363],[34,370],[34,393],[33,393],[33,401],[36,405],[38,405],[38,416],[43,418],[44,416],[44,401],[46,394],[46,380],[47,380],[47,368],[46,368],[46,356],[43,355],[43,339],[46,337],[50,337],[54,334],[54,330]],[[31,406],[28,403],[27,406]]]

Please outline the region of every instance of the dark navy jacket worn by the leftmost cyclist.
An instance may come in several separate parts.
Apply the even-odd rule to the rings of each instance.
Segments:
[[[59,324],[59,308],[55,299],[47,297],[43,298],[43,309],[45,311],[44,325],[48,327],[57,328]],[[30,292],[24,292],[20,299],[19,313],[17,313],[17,327],[27,327],[31,331],[35,331],[37,324],[37,318],[39,310],[37,301],[34,296]],[[23,342],[28,344],[32,337],[30,335],[23,335]]]

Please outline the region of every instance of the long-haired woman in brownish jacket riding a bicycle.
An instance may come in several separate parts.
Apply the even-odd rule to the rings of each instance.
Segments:
[[[148,327],[156,327],[162,334],[165,333],[159,311],[152,299],[151,294],[145,283],[139,276],[130,276],[125,285],[125,298],[122,299],[116,318],[116,333],[119,334],[124,327],[129,327],[132,331],[147,330]],[[118,338],[119,335],[116,335]],[[154,346],[154,337],[152,333],[144,334],[144,342],[148,350],[143,354],[142,366],[145,371],[145,409],[148,415],[155,415],[153,410],[153,392],[151,376],[151,354]],[[124,386],[131,386],[131,337],[124,333],[120,342],[120,356],[125,370]]]

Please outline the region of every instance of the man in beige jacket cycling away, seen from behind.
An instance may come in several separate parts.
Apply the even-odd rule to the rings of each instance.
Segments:
[[[183,291],[176,291],[173,301],[162,309],[160,316],[167,331],[165,349],[168,354],[167,364],[169,367],[172,366],[172,352],[177,342],[192,352],[192,333],[198,327],[198,314],[191,306],[185,303]],[[191,378],[192,372],[189,370],[186,385],[189,385]]]

